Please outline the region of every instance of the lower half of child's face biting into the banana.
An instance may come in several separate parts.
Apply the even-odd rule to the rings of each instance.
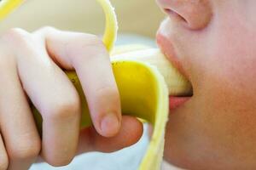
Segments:
[[[169,15],[159,46],[194,88],[170,113],[166,159],[193,169],[255,169],[256,1],[158,3]]]

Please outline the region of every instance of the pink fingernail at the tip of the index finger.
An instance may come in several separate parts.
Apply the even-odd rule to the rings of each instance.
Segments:
[[[119,132],[119,119],[116,114],[108,113],[102,118],[101,122],[102,135],[112,137]]]

